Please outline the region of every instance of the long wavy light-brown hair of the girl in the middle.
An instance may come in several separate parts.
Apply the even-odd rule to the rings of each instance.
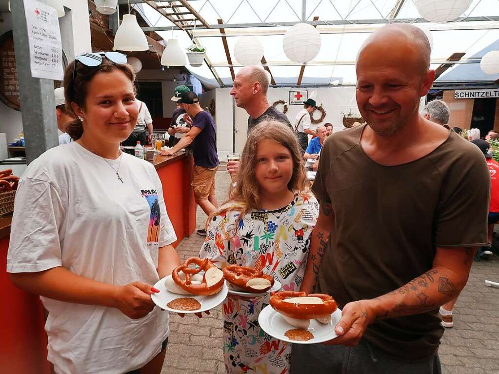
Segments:
[[[254,173],[256,150],[262,140],[272,140],[287,148],[293,161],[293,174],[287,187],[301,196],[308,194],[307,174],[296,136],[288,126],[281,122],[264,121],[256,125],[248,135],[241,155],[241,169],[237,176],[236,187],[231,189],[229,199],[224,201],[221,208],[209,215],[207,225],[216,215],[231,210],[240,210],[241,213],[236,222],[236,227],[238,227],[246,213],[252,209],[260,208],[260,186]]]

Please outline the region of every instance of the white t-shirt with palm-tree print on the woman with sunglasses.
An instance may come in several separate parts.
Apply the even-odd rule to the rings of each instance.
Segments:
[[[119,159],[107,160],[114,169]],[[99,282],[154,285],[158,248],[177,237],[161,181],[147,161],[123,153],[121,183],[106,161],[71,142],[33,161],[19,182],[7,271],[57,266]],[[155,308],[132,320],[118,309],[42,297],[48,360],[58,374],[123,374],[148,363],[169,333]]]

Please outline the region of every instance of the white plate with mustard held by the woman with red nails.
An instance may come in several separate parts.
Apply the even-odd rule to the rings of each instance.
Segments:
[[[159,281],[156,282],[154,285],[154,288],[157,288],[160,292],[157,294],[151,295],[151,299],[154,301],[154,303],[159,306],[161,309],[167,310],[169,312],[174,312],[174,313],[199,313],[199,312],[204,312],[210,309],[213,309],[225,300],[227,297],[227,282],[224,282],[224,287],[222,287],[222,290],[220,292],[217,292],[215,295],[210,295],[210,296],[200,296],[200,295],[179,295],[179,294],[174,294],[173,292],[170,292],[166,289],[165,287],[165,280],[167,278],[171,278],[171,275],[166,276],[163,279],[160,279]],[[177,310],[177,309],[172,309],[166,306],[170,301],[173,299],[178,299],[180,297],[192,297],[193,299],[196,299],[199,301],[201,304],[201,309],[198,310]]]

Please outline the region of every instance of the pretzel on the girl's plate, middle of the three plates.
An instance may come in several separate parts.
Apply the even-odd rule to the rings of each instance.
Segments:
[[[274,285],[274,278],[252,267],[229,265],[223,272],[225,279],[247,292],[266,292]]]

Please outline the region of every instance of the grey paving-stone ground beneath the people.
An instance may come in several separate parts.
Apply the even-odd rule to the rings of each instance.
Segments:
[[[229,175],[219,171],[219,202],[226,198],[229,184]],[[205,220],[206,215],[198,208],[198,227]],[[185,238],[177,248],[180,257],[198,255],[202,242],[196,233]],[[439,350],[444,374],[499,373],[499,289],[486,287],[486,279],[499,282],[497,257],[473,265],[468,285],[454,309],[454,328],[446,330]],[[171,334],[162,374],[225,373],[222,326],[220,307],[202,319],[170,314]]]

